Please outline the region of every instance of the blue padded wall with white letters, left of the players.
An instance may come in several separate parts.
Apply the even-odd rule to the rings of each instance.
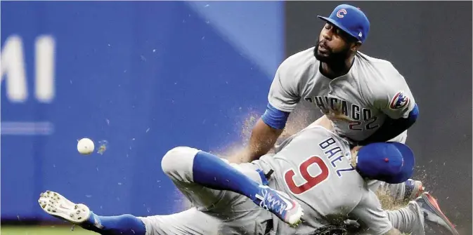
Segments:
[[[161,157],[242,142],[284,57],[283,13],[280,1],[1,2],[2,220],[49,219],[46,189],[103,215],[180,210]],[[82,137],[96,152],[77,152]]]

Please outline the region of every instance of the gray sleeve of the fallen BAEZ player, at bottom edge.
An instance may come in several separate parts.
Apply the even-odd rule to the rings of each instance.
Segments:
[[[381,208],[380,200],[371,190],[363,195],[350,215],[367,227],[370,234],[386,234],[392,228],[386,211]]]

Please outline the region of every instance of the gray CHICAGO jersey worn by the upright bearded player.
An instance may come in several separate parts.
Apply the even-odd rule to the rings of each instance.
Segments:
[[[268,93],[276,109],[292,112],[310,102],[334,121],[335,133],[361,141],[375,133],[387,116],[407,117],[415,100],[406,80],[391,62],[356,53],[347,74],[328,79],[320,73],[313,48],[287,58]]]

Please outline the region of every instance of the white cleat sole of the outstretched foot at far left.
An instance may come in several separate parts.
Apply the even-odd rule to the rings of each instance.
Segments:
[[[84,204],[73,203],[57,192],[46,191],[41,193],[38,203],[44,212],[73,224],[81,224],[88,220],[91,213],[89,207]]]

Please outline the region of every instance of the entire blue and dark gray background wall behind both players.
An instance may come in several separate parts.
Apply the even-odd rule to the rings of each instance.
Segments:
[[[57,222],[37,204],[47,189],[103,215],[180,210],[161,156],[245,142],[279,63],[339,3],[2,1],[2,224]],[[351,4],[371,22],[362,51],[391,61],[420,106],[416,176],[472,234],[471,2]],[[320,116],[299,113],[288,128]],[[82,137],[105,151],[80,155]]]

